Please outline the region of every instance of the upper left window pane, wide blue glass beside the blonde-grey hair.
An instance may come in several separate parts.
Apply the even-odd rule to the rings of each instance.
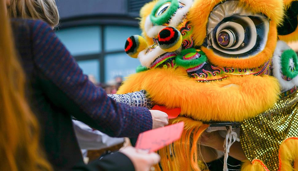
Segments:
[[[101,51],[99,26],[73,27],[56,32],[58,38],[73,56],[95,54]]]

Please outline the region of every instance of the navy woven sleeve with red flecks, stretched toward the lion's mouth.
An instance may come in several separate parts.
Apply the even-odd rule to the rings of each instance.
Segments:
[[[89,118],[82,120],[113,137],[136,137],[152,129],[149,110],[117,103],[102,88],[93,85],[51,27],[41,21],[33,21],[30,27],[33,61],[38,72],[56,86],[59,90],[54,92],[57,97],[58,93],[63,93],[81,112],[73,113],[64,104],[65,110],[78,119]],[[92,123],[89,123],[91,120]]]

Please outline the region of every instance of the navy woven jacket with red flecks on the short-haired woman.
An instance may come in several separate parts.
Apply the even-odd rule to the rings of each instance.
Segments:
[[[152,129],[149,110],[117,103],[93,85],[50,26],[24,19],[12,19],[11,25],[41,143],[56,169],[82,162],[72,116],[112,137],[136,137]]]

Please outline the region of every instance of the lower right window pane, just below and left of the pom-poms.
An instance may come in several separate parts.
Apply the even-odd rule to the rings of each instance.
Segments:
[[[127,77],[135,73],[135,69],[140,65],[138,59],[131,58],[124,53],[107,54],[104,57],[105,82],[110,82],[116,76]]]

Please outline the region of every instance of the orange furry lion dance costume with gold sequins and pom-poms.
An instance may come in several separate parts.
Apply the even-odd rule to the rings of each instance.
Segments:
[[[298,170],[298,1],[160,0],[140,11],[142,36],[126,53],[141,65],[118,93],[145,89],[180,108],[180,140],[161,149],[157,170],[204,170],[199,137],[238,122],[244,171]],[[231,140],[230,140],[231,141]],[[234,140],[233,140],[234,141]]]

